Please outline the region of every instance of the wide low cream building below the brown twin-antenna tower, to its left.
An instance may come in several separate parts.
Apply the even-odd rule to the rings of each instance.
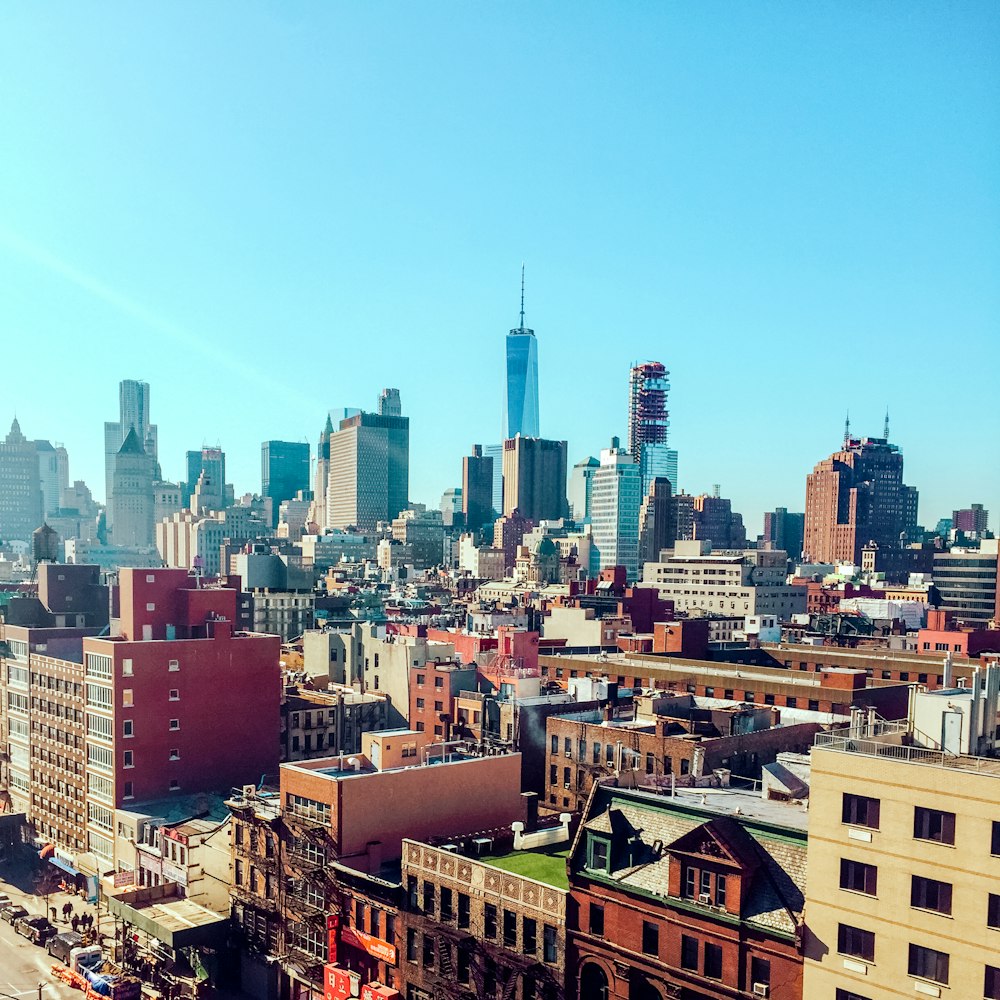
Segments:
[[[661,561],[646,563],[643,584],[655,586],[677,611],[776,615],[788,621],[806,610],[804,587],[786,582],[784,552],[715,552],[710,542],[677,542]]]

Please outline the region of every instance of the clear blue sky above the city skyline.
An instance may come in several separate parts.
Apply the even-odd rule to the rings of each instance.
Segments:
[[[165,475],[218,443],[244,491],[398,386],[436,504],[499,438],[523,260],[571,462],[650,358],[682,487],[751,533],[848,408],[889,407],[923,523],[995,512],[998,36],[974,2],[3,5],[0,411],[100,496],[142,378]]]

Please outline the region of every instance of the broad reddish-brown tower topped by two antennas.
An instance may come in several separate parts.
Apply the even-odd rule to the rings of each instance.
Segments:
[[[917,491],[903,484],[903,455],[885,438],[850,436],[806,479],[803,552],[810,562],[861,564],[868,542],[898,548],[916,523]]]

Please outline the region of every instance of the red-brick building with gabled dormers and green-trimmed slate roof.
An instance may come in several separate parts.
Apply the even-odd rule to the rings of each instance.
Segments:
[[[567,995],[802,996],[805,816],[595,788],[570,856]]]

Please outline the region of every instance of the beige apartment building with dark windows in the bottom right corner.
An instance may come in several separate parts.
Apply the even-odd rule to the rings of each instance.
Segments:
[[[1000,760],[939,746],[905,722],[817,736],[808,1000],[1000,998]]]

